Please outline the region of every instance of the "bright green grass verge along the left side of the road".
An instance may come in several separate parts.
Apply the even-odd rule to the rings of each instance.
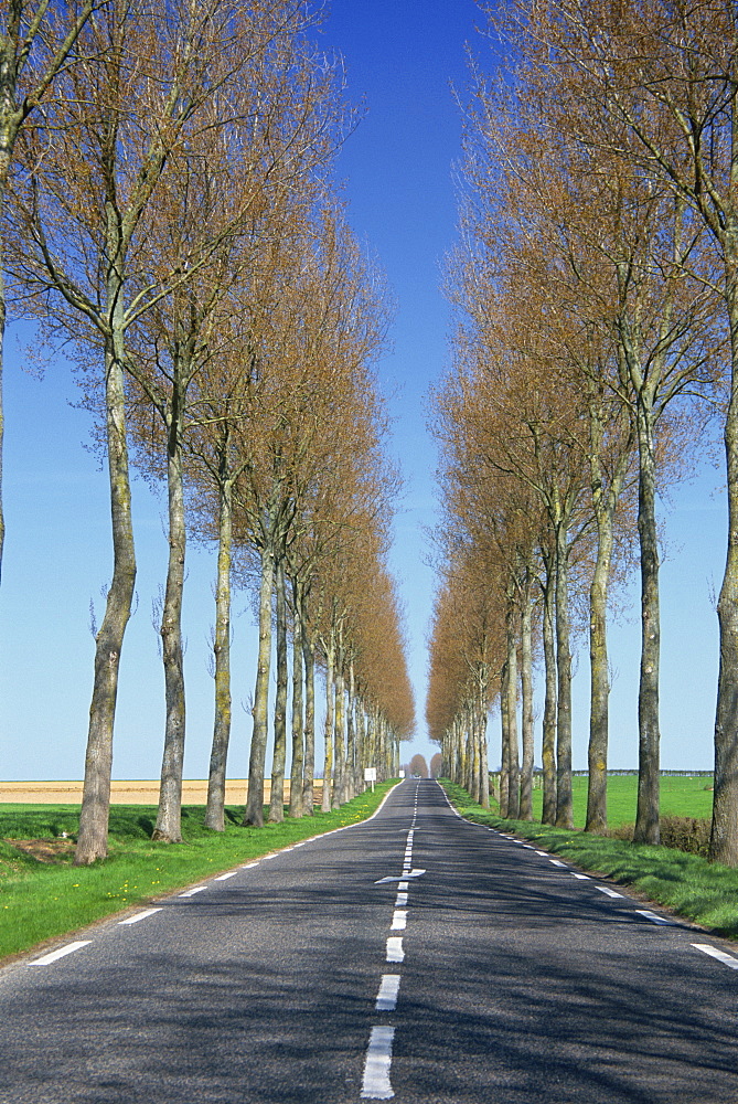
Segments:
[[[223,834],[204,827],[202,806],[188,806],[182,810],[184,845],[151,841],[156,806],[113,806],[109,857],[92,867],[72,866],[78,806],[0,806],[0,959],[240,862],[365,820],[392,785],[383,783],[335,813],[264,828],[244,827],[243,809],[231,806]],[[63,832],[72,838],[64,840]],[[33,841],[23,843],[32,853],[13,841]],[[46,861],[34,857],[42,853]]]

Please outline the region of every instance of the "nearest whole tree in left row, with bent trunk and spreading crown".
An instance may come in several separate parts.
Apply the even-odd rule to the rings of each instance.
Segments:
[[[139,253],[146,216],[173,160],[213,113],[229,121],[229,87],[250,59],[303,25],[290,0],[210,0],[160,12],[111,2],[78,36],[84,51],[57,85],[43,128],[23,141],[25,176],[15,199],[24,236],[15,276],[36,296],[54,333],[71,337],[82,363],[101,354],[105,440],[111,496],[114,572],[97,635],[85,789],[75,861],[107,850],[113,724],[120,651],[136,578],[126,421],[129,329],[199,266],[152,270]],[[174,159],[175,160],[175,159]],[[36,301],[40,301],[36,299]]]

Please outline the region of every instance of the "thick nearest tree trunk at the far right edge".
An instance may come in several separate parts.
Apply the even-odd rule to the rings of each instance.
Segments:
[[[738,867],[738,232],[726,262],[732,374],[725,421],[728,482],[728,552],[717,604],[720,667],[715,714],[715,794],[709,857]]]

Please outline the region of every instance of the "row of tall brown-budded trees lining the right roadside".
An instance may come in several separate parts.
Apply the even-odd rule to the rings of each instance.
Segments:
[[[570,826],[574,599],[589,626],[587,827],[601,830],[608,595],[637,555],[635,839],[657,842],[655,496],[721,415],[730,539],[710,854],[738,864],[735,9],[531,0],[495,19],[516,61],[496,78],[472,65],[466,115],[454,367],[436,396],[447,517],[429,723],[448,768],[482,787],[483,719],[499,694],[503,810],[531,816],[539,639],[544,820]]]

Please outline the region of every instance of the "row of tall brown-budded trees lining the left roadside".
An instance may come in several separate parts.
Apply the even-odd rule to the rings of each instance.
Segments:
[[[212,828],[223,829],[234,580],[258,595],[246,822],[264,818],[272,652],[272,819],[282,816],[288,715],[290,814],[312,811],[317,664],[324,807],[352,796],[366,762],[394,773],[411,729],[385,565],[397,477],[383,458],[371,369],[387,296],[332,185],[333,155],[355,120],[340,64],[310,42],[314,23],[297,0],[19,4],[25,79],[40,92],[14,136],[4,269],[19,312],[73,350],[110,487],[114,571],[96,635],[79,863],[107,849],[136,580],[131,458],[165,482],[168,499],[156,838],[181,839],[189,532],[218,550]],[[44,84],[47,44],[67,26]]]

